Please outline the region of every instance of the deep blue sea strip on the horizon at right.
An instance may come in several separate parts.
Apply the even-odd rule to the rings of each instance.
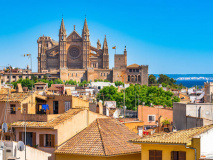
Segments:
[[[159,77],[159,74],[154,74],[156,78]],[[182,83],[185,87],[194,87],[199,88],[204,86],[204,82],[213,82],[213,74],[165,74],[170,78],[176,80],[176,84]]]

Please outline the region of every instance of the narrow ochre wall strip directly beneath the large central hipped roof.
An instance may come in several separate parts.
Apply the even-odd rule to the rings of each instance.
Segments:
[[[127,154],[122,156],[112,156],[112,157],[56,154],[55,160],[141,160],[141,153]]]

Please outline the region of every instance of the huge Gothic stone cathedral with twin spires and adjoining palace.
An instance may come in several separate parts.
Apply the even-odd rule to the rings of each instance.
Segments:
[[[50,37],[39,37],[38,72],[48,73],[63,81],[109,80],[148,85],[148,66],[132,64],[127,66],[127,51],[114,55],[114,67],[109,68],[109,53],[105,35],[103,45],[100,40],[94,47],[90,43],[90,33],[85,18],[81,35],[76,32],[67,35],[62,18],[59,41]]]

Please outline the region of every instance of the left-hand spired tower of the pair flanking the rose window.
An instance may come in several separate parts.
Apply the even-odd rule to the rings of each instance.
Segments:
[[[61,27],[59,30],[59,68],[67,68],[67,50],[66,50],[66,29],[62,18]]]

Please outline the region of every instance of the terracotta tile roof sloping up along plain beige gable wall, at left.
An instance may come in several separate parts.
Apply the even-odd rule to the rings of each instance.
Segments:
[[[35,122],[35,121],[28,121],[26,122],[27,127],[31,128],[54,128],[55,126],[59,125],[60,123],[65,122],[68,119],[71,119],[73,116],[78,114],[79,112],[83,111],[83,109],[70,109],[67,112],[59,115],[56,118],[48,122]],[[11,124],[13,127],[24,127],[24,121],[17,121]]]

